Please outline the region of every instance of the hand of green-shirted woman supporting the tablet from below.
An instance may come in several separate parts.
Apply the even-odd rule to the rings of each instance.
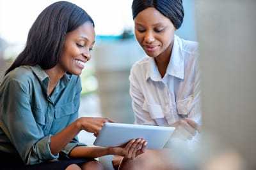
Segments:
[[[119,155],[125,159],[134,159],[145,152],[147,147],[147,141],[145,139],[132,139],[124,147],[111,147],[109,148],[109,154]]]

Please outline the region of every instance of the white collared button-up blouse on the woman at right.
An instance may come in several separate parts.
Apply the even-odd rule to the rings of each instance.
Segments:
[[[188,117],[201,124],[198,43],[175,36],[166,74],[145,57],[131,69],[130,95],[135,124],[168,126]]]

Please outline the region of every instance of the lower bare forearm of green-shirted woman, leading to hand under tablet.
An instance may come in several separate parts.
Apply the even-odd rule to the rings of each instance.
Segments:
[[[77,146],[70,153],[69,157],[97,158],[104,155],[113,155],[111,148]]]

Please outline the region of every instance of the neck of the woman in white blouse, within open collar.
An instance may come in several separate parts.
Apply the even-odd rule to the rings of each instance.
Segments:
[[[173,42],[170,44],[170,46],[168,46],[168,48],[163,53],[161,53],[155,58],[157,69],[161,74],[162,78],[164,77],[168,64],[170,62],[172,47],[173,47]]]

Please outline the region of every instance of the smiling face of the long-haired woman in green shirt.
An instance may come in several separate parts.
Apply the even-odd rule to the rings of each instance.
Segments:
[[[60,62],[57,64],[63,72],[79,75],[84,64],[91,58],[95,42],[95,31],[91,22],[85,22],[74,31],[68,32],[63,46]]]

